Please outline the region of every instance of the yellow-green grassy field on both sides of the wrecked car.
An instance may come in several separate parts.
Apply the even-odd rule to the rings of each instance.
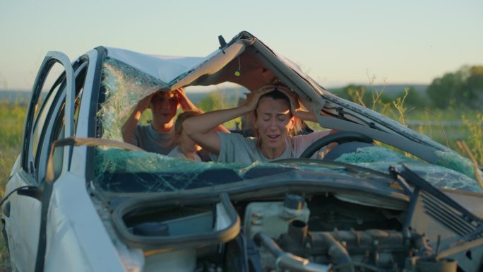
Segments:
[[[405,108],[403,100],[395,100],[392,105],[382,105],[376,101],[373,106],[378,112],[406,124],[411,129],[434,138],[439,143],[450,146],[454,150],[458,150],[456,148],[456,140],[458,138],[464,140],[470,147],[470,150],[472,150],[475,158],[477,158],[479,165],[483,165],[483,115],[481,113],[464,109],[431,112],[427,109]],[[25,111],[25,103],[10,102],[9,100],[0,101],[1,196],[4,196],[5,184],[10,175],[11,167],[20,152]],[[147,116],[145,119],[150,119],[150,117]],[[410,120],[418,120],[421,124],[412,125]],[[451,126],[448,124],[451,124]],[[462,154],[468,157],[467,154]],[[6,245],[3,242],[3,237],[0,235],[0,271],[8,270]]]

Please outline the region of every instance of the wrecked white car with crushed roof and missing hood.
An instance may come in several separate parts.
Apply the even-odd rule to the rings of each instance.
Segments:
[[[47,85],[54,64],[64,71]],[[253,90],[264,71],[340,132],[302,158],[251,165],[122,143],[123,118],[150,93]],[[309,159],[331,142],[371,144]],[[205,58],[96,47],[71,62],[48,52],[1,223],[14,271],[481,272],[481,178],[470,160],[328,93],[241,32]]]

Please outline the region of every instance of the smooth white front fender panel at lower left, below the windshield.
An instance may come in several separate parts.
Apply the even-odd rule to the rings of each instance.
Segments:
[[[122,271],[120,256],[85,187],[66,173],[54,185],[47,225],[47,271]]]

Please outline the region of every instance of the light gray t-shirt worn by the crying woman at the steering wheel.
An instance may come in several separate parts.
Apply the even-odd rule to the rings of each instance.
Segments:
[[[285,151],[280,157],[275,159],[265,158],[261,153],[260,148],[257,146],[257,138],[244,137],[241,134],[225,134],[217,131],[220,136],[220,154],[211,155],[211,158],[217,162],[241,162],[251,163],[255,161],[269,162],[270,160],[280,160],[288,158],[299,158],[304,150],[310,146],[311,143],[317,141],[323,136],[327,136],[330,130],[315,131],[311,134],[299,135],[294,137],[287,137],[285,140]],[[316,152],[311,158],[323,158],[323,155],[327,153],[326,147],[321,152]]]

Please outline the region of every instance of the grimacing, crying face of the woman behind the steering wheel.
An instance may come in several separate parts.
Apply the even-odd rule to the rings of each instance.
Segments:
[[[285,148],[285,139],[294,127],[289,103],[282,99],[262,97],[256,113],[254,126],[258,130],[262,149]]]

